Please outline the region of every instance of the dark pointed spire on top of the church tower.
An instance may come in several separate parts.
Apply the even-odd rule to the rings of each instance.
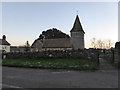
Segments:
[[[73,25],[73,28],[71,29],[70,32],[78,32],[78,31],[83,31],[83,28],[82,28],[82,25],[80,23],[80,20],[79,20],[79,17],[78,15],[76,16],[76,19],[75,19],[75,22],[74,22],[74,25]]]

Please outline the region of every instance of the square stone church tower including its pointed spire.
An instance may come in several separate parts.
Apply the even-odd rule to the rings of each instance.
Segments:
[[[73,28],[70,31],[71,33],[71,45],[72,48],[77,49],[84,49],[84,30],[82,28],[82,25],[80,23],[78,15],[76,16]]]

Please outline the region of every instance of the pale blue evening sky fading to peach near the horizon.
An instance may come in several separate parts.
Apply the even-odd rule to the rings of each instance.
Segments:
[[[76,15],[85,31],[85,47],[91,39],[118,41],[117,2],[2,2],[2,35],[12,46],[30,45],[42,31],[57,28],[70,35]],[[1,9],[0,9],[1,10]],[[78,11],[78,13],[77,13]]]

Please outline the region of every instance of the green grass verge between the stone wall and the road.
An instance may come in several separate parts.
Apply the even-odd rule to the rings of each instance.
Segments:
[[[74,70],[96,70],[97,68],[96,62],[81,59],[4,59],[2,65]]]

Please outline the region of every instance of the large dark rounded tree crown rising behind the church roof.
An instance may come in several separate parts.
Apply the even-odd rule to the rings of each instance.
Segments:
[[[63,33],[62,31],[53,28],[48,29],[47,31],[43,31],[42,34],[40,34],[39,39],[54,39],[54,38],[69,38],[69,35]]]

